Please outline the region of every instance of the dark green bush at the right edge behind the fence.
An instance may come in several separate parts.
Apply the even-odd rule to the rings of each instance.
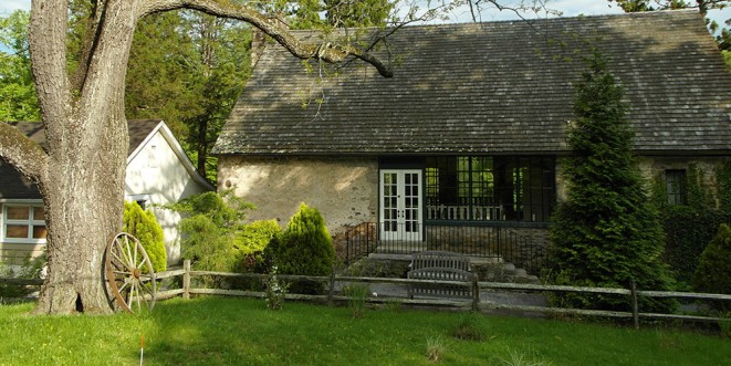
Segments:
[[[700,254],[693,275],[698,292],[731,294],[731,228],[721,223],[719,231]],[[731,306],[727,306],[727,311]]]

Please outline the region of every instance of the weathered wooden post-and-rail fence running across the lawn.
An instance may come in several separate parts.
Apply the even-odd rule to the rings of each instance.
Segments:
[[[182,269],[170,270],[166,272],[156,273],[158,280],[169,279],[175,276],[182,276],[181,289],[170,289],[159,291],[157,293],[158,300],[171,299],[175,296],[182,296],[189,299],[191,295],[226,295],[226,296],[248,296],[248,297],[264,297],[263,292],[244,291],[244,290],[227,290],[227,289],[202,289],[194,287],[191,285],[192,278],[196,276],[221,276],[221,278],[242,278],[251,279],[259,278],[265,279],[268,274],[259,273],[229,273],[229,272],[212,272],[212,271],[195,271],[191,268],[190,261],[184,262]],[[401,304],[416,305],[416,306],[445,306],[445,307],[462,307],[471,309],[474,311],[488,310],[509,310],[509,311],[528,311],[537,313],[554,313],[554,314],[572,314],[572,315],[589,315],[599,317],[619,317],[633,318],[635,327],[639,327],[640,318],[656,318],[656,320],[678,320],[678,321],[693,321],[693,322],[731,322],[730,317],[714,317],[714,316],[700,316],[700,315],[685,315],[685,314],[662,314],[662,313],[643,313],[639,309],[638,299],[640,297],[657,297],[657,299],[689,299],[698,301],[718,301],[731,302],[731,295],[727,294],[708,294],[708,293],[693,293],[693,292],[675,292],[675,291],[646,291],[637,290],[634,284],[630,289],[609,289],[609,287],[582,287],[582,286],[565,286],[565,285],[545,285],[545,284],[520,284],[520,283],[501,283],[501,282],[482,282],[473,276],[472,281],[435,281],[435,280],[411,280],[411,279],[393,279],[393,278],[361,278],[361,276],[341,276],[335,275],[335,271],[330,276],[310,276],[310,275],[284,275],[278,274],[284,281],[317,281],[327,283],[327,294],[325,295],[307,295],[307,294],[285,294],[288,300],[304,300],[326,302],[332,304],[335,301],[348,301],[349,296],[337,295],[335,293],[335,284],[349,285],[353,283],[389,283],[395,285],[419,285],[429,284],[445,285],[445,286],[466,286],[471,289],[472,296],[470,299],[408,299],[408,297],[393,297],[393,296],[369,296],[366,301],[369,303],[388,303],[397,301]],[[0,278],[0,284],[27,285],[39,286],[43,280],[38,279],[3,279]],[[583,294],[608,294],[608,295],[624,295],[628,296],[631,303],[631,312],[616,312],[604,310],[583,310],[583,309],[564,309],[551,306],[531,306],[531,305],[509,305],[497,304],[492,302],[481,301],[480,291],[482,290],[508,290],[508,291],[530,291],[530,292],[573,292]]]

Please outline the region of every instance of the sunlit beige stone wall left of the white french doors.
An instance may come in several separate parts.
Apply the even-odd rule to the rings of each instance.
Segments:
[[[249,220],[276,219],[284,227],[304,202],[320,210],[333,236],[376,221],[376,158],[223,156],[218,167],[219,189],[257,206]]]

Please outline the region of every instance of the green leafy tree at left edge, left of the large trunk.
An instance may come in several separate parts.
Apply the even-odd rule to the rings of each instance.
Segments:
[[[40,111],[28,51],[27,11],[0,18],[0,121],[38,121]]]

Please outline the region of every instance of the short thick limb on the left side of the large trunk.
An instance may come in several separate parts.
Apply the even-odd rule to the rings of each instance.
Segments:
[[[43,148],[8,123],[0,123],[0,157],[36,182],[48,171],[49,156]]]

